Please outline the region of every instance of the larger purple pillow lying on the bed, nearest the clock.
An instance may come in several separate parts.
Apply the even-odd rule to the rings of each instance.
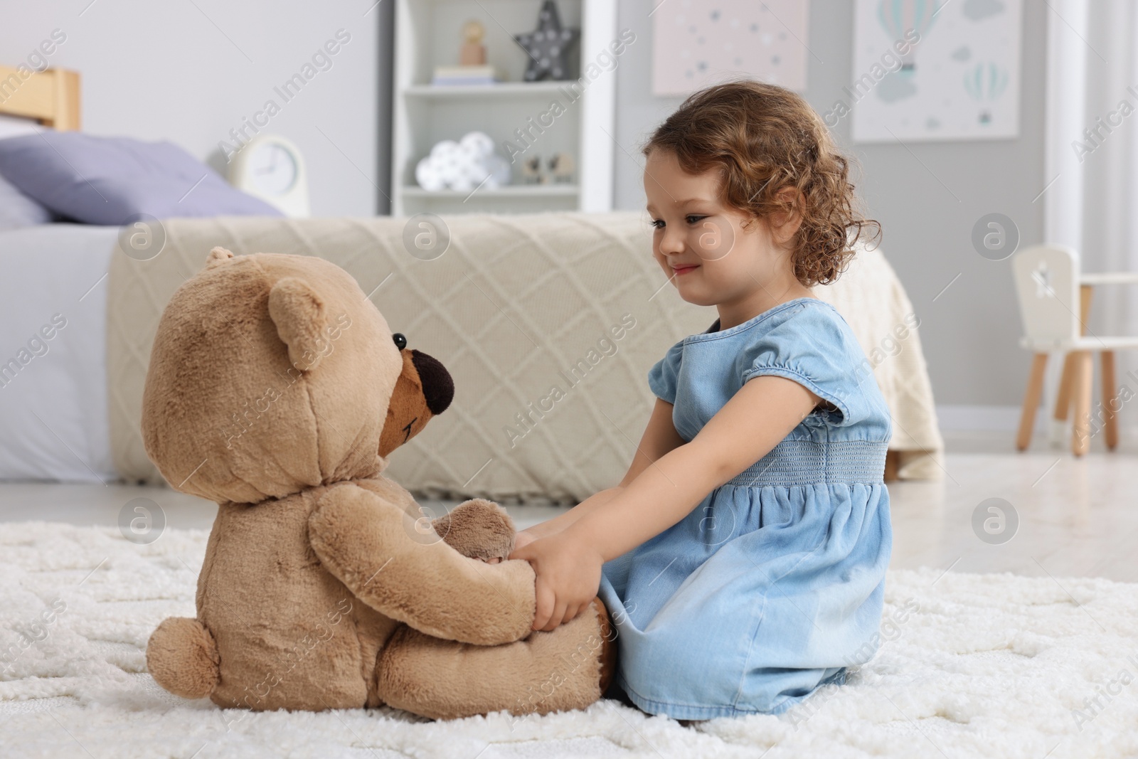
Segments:
[[[117,226],[139,214],[280,216],[170,142],[80,132],[0,140],[0,174],[61,216]]]

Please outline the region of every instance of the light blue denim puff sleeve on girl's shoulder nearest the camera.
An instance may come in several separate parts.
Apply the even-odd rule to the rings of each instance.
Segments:
[[[750,340],[739,357],[742,381],[774,376],[798,382],[833,404],[827,422],[847,427],[877,416],[884,399],[849,324],[823,303],[795,305]]]

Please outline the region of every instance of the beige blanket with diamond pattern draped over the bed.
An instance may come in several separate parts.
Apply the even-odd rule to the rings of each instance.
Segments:
[[[110,267],[107,372],[115,464],[160,481],[139,432],[158,316],[216,245],[237,254],[319,255],[343,266],[412,347],[455,378],[451,409],[391,457],[412,490],[500,501],[575,501],[624,475],[652,407],[649,368],[715,313],[684,303],[650,254],[638,214],[462,215],[450,248],[407,253],[405,220],[171,220],[150,261]],[[880,251],[819,288],[867,350],[912,306]],[[613,337],[613,330],[620,337]],[[902,477],[937,477],[942,443],[915,331],[874,372],[894,419]],[[894,354],[894,355],[888,355]]]

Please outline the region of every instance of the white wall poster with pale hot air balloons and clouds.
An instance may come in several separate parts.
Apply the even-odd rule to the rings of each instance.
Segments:
[[[855,142],[1019,137],[1021,18],[1022,0],[856,0],[851,83],[827,113],[852,110]]]

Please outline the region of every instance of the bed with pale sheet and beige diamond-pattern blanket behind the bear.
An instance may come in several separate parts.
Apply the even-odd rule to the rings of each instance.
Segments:
[[[57,85],[67,81],[77,84]],[[648,368],[714,313],[661,287],[641,214],[445,223],[450,247],[432,261],[409,254],[407,222],[390,217],[167,218],[160,253],[146,261],[123,251],[118,226],[0,231],[0,479],[160,481],[139,434],[150,343],[166,300],[221,245],[333,261],[394,330],[451,369],[452,409],[393,457],[409,488],[572,502],[612,485],[652,405]],[[818,295],[879,356],[869,370],[894,420],[888,476],[938,479],[943,444],[920,335],[883,253],[863,246]],[[622,320],[634,323],[626,337],[600,343]],[[551,402],[554,386],[563,398]]]

